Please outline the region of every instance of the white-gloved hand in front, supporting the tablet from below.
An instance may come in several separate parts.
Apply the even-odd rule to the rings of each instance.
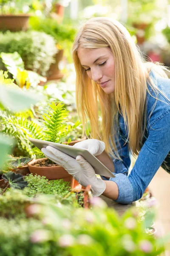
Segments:
[[[45,157],[62,166],[79,184],[84,187],[91,185],[92,195],[99,196],[105,191],[105,182],[96,177],[93,167],[82,156],[74,159],[51,146],[42,148],[41,151]]]

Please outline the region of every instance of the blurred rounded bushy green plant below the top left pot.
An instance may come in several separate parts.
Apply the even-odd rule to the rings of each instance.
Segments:
[[[52,36],[43,32],[9,32],[0,33],[0,52],[18,52],[24,61],[26,70],[45,75],[57,52]]]

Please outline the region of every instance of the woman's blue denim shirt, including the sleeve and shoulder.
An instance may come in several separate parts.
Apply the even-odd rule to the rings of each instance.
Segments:
[[[153,176],[170,152],[170,79],[158,77],[153,72],[150,75],[156,80],[159,90],[169,100],[159,93],[157,96],[159,100],[156,101],[155,93],[147,84],[150,91],[146,96],[147,138],[128,177],[130,152],[128,142],[125,143],[125,140],[122,139],[122,136],[127,139],[127,129],[123,117],[119,115],[119,143],[116,141],[116,145],[122,161],[113,159],[116,177],[109,180],[117,184],[119,196],[116,202],[121,204],[130,204],[142,197]]]

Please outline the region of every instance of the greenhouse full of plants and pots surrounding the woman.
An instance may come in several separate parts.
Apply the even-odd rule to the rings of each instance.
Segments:
[[[118,20],[145,61],[170,68],[170,0],[0,0],[0,256],[170,255],[164,169],[142,198],[118,204],[94,197],[30,141],[72,146],[90,136],[72,46],[91,17]]]

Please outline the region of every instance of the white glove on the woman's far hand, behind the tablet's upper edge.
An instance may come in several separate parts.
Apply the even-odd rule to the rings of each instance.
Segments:
[[[101,140],[88,139],[77,142],[73,145],[76,148],[86,148],[94,156],[99,156],[105,150],[105,143]]]

